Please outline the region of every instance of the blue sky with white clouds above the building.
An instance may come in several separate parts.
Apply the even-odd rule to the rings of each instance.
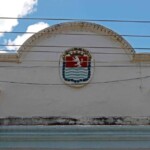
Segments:
[[[150,21],[150,0],[0,0],[1,51],[16,51],[31,34],[6,32],[38,32],[64,21],[21,20],[14,18],[63,18],[96,20]],[[150,23],[95,22],[120,35],[150,35]],[[124,37],[134,48],[150,48],[150,37]],[[150,51],[150,50],[149,50]],[[137,52],[148,52],[141,50]]]

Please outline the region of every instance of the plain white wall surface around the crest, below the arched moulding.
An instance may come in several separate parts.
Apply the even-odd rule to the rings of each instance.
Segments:
[[[37,45],[76,47],[121,47],[107,36],[57,35],[40,39]],[[33,51],[61,51],[68,48],[33,47],[22,57],[20,64],[0,63],[0,81],[23,83],[63,84],[59,75],[60,53]],[[124,53],[123,49],[96,49],[91,52]],[[128,55],[93,54],[96,66],[137,65],[137,67],[95,67],[93,82],[107,82],[149,76],[150,69],[140,70]],[[35,60],[35,61],[33,61]],[[36,61],[38,60],[38,61]],[[47,66],[24,68],[20,66]],[[52,68],[51,66],[56,66]],[[19,67],[19,68],[18,68]],[[28,85],[0,83],[0,117],[8,116],[148,116],[150,106],[150,78],[109,83],[88,84],[82,88],[67,85]]]

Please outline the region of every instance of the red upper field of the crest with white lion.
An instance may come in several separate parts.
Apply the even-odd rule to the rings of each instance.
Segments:
[[[66,67],[87,67],[88,66],[88,56],[66,56]]]

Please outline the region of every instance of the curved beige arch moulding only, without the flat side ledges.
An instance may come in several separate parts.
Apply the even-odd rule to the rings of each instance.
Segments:
[[[32,35],[28,40],[26,40],[23,45],[19,48],[18,54],[21,57],[23,52],[27,52],[33,47],[40,39],[44,37],[54,36],[56,34],[63,34],[64,32],[92,32],[96,35],[104,35],[109,36],[111,39],[120,43],[121,48],[123,48],[126,53],[128,54],[135,54],[134,49],[132,46],[119,34],[116,32],[95,23],[89,22],[67,22],[67,23],[60,23],[48,28],[45,28],[34,35]],[[131,55],[132,57],[132,55]],[[131,58],[132,59],[132,58]]]

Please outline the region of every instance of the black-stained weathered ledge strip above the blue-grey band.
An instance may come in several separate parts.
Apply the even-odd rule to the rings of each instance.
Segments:
[[[0,126],[15,125],[150,125],[150,117],[8,117],[0,118]]]

